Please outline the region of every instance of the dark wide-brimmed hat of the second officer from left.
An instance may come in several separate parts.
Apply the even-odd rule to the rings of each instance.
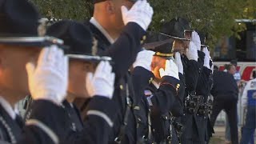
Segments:
[[[60,38],[65,46],[69,46],[66,54],[69,58],[85,61],[110,61],[109,57],[99,57],[97,50],[93,49],[94,38],[88,26],[71,20],[63,20],[54,23],[47,30],[47,35]],[[94,46],[96,47],[96,46]]]

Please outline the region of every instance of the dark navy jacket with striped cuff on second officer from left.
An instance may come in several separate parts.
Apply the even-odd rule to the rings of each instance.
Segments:
[[[76,106],[63,102],[63,108],[70,120],[70,133],[64,139],[69,144],[104,144],[108,143],[111,128],[114,125],[118,107],[110,98],[94,96],[86,105],[86,113],[82,113]],[[82,122],[83,121],[83,122]]]

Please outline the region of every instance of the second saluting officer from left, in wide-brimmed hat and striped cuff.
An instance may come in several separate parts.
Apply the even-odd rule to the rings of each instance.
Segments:
[[[114,78],[111,58],[94,54],[97,44],[90,29],[74,21],[56,22],[47,30],[47,35],[61,38],[70,49],[67,98],[62,102],[70,120],[70,133],[63,138],[65,143],[107,143],[114,125],[116,109],[111,100]],[[82,122],[79,110],[72,104],[74,98],[91,98],[86,106],[86,122]]]

